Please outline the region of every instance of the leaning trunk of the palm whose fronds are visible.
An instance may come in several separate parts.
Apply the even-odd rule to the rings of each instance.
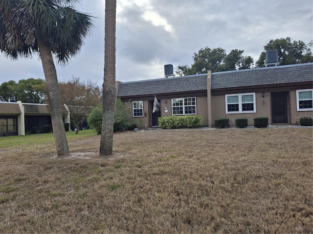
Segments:
[[[60,90],[57,72],[52,59],[50,47],[43,40],[40,30],[36,30],[36,38],[40,50],[40,59],[43,63],[47,99],[51,113],[52,129],[58,156],[68,155],[67,137],[62,118]]]

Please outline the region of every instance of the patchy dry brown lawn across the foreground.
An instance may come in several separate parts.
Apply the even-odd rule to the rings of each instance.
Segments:
[[[313,233],[312,128],[128,132],[108,158],[99,142],[0,149],[0,233]]]

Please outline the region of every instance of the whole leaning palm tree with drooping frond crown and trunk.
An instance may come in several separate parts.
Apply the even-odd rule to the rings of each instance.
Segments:
[[[11,59],[39,54],[58,156],[69,153],[53,56],[61,65],[75,56],[92,28],[89,15],[67,6],[77,0],[1,0],[0,51]]]

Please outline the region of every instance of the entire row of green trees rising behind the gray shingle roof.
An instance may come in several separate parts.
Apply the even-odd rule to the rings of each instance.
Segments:
[[[292,41],[289,37],[271,39],[264,45],[264,51],[255,64],[251,56],[244,56],[244,50],[234,49],[226,54],[226,51],[221,47],[214,49],[205,47],[204,49],[201,48],[198,53],[194,53],[194,62],[191,66],[179,65],[175,73],[178,76],[187,76],[203,74],[208,70],[223,72],[265,67],[266,51],[274,49],[277,50],[279,65],[313,62],[312,46],[312,40],[306,44],[301,40]]]

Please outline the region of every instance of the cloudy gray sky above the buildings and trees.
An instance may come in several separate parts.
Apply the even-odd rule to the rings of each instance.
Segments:
[[[72,77],[99,86],[104,76],[105,0],[81,0],[75,8],[93,17],[94,28],[80,53],[62,67]],[[117,0],[116,80],[164,78],[164,65],[191,66],[201,48],[244,50],[256,62],[271,39],[313,39],[312,0]],[[41,60],[11,60],[0,53],[0,84],[45,79]]]

